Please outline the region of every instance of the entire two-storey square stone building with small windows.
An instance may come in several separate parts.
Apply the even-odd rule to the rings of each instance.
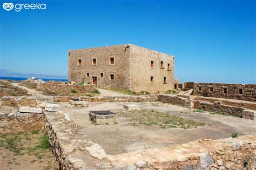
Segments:
[[[156,93],[174,89],[174,57],[124,44],[70,50],[69,81],[103,89]]]

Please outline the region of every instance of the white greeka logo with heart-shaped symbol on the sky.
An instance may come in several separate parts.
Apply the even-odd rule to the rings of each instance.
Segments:
[[[28,10],[45,10],[46,4],[36,3],[36,4],[13,4],[13,3],[3,3],[3,9],[6,11],[10,11],[15,7],[15,11],[19,12],[23,9]]]

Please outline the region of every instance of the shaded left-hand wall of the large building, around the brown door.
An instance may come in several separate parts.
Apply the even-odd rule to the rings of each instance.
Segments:
[[[92,84],[92,76],[97,77],[97,87],[105,89],[130,89],[130,50],[125,45],[96,47],[92,49],[69,51],[69,81]],[[114,57],[114,64],[110,64]],[[92,65],[92,58],[96,64]],[[78,65],[82,59],[82,65]],[[89,76],[87,76],[89,73]],[[103,73],[101,77],[100,73]],[[114,74],[114,80],[110,80]]]

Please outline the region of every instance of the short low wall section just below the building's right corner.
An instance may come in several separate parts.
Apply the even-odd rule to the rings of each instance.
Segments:
[[[186,98],[185,98],[186,97]],[[189,96],[179,97],[174,95],[167,95],[167,94],[159,94],[158,100],[163,103],[170,103],[173,105],[179,105],[186,108],[192,107],[192,100],[187,98]]]

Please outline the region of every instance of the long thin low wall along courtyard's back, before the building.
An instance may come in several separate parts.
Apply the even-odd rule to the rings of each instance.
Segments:
[[[55,102],[68,102],[72,99],[79,99],[89,102],[148,102],[148,101],[157,101],[157,95],[151,96],[118,96],[118,97],[69,97],[69,96],[56,96],[54,98]]]

